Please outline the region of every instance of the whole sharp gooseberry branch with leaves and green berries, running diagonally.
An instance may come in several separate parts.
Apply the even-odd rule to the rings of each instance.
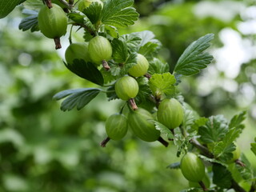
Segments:
[[[189,181],[190,187],[184,191],[256,190],[250,162],[236,144],[245,128],[246,112],[230,120],[222,115],[200,117],[178,92],[182,78],[198,74],[212,62],[206,49],[214,34],[192,42],[170,73],[168,63],[158,55],[161,42],[151,31],[119,34],[120,27],[138,20],[133,0],[2,1],[0,18],[20,3],[28,16],[19,28],[41,31],[54,39],[56,49],[62,48],[61,38],[69,29],[64,66],[95,84],[95,88],[55,94],[54,99],[64,99],[61,110],[81,110],[100,93],[109,101],[123,100],[120,111],[106,119],[106,138],[101,146],[121,140],[131,130],[142,141],[177,146],[174,155],[182,160],[168,168],[180,169]],[[73,42],[74,26],[84,31],[84,41]],[[256,139],[251,150],[256,154]]]

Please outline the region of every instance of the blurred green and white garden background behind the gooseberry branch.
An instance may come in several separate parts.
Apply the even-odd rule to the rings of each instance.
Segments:
[[[202,73],[182,78],[179,90],[199,114],[230,119],[247,110],[238,139],[256,169],[250,142],[256,136],[256,1],[142,0],[141,17],[122,34],[152,30],[170,70],[186,46],[214,33],[214,62]],[[62,112],[58,91],[94,86],[62,63],[68,46],[54,50],[42,34],[18,30],[22,6],[0,20],[0,192],[176,192],[188,187],[176,148],[147,143],[127,134],[106,148],[104,122],[122,102],[100,94],[84,109]],[[82,41],[82,34],[74,35]]]

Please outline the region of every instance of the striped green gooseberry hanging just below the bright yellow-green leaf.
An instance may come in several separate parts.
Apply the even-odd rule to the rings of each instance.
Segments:
[[[175,98],[166,98],[158,106],[158,122],[174,129],[183,121],[184,111],[180,102]]]

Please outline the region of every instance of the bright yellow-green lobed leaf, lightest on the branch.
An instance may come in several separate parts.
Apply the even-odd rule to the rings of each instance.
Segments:
[[[150,89],[154,95],[166,94],[166,96],[171,96],[175,94],[175,84],[176,80],[173,74],[153,74],[150,78]]]

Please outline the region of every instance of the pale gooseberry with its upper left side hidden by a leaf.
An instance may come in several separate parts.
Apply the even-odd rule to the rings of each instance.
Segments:
[[[149,62],[142,54],[137,55],[137,63],[135,66],[132,66],[129,70],[129,74],[134,77],[140,77],[146,74],[146,71],[149,69]]]

